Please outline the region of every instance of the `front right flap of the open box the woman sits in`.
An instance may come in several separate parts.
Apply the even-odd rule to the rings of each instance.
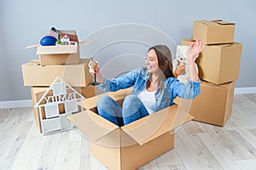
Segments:
[[[183,111],[177,105],[172,105],[121,128],[137,143],[145,144],[192,119],[193,117],[188,112]]]

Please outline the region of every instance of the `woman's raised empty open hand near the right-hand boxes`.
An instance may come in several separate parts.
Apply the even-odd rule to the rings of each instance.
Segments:
[[[205,47],[205,44],[201,42],[199,37],[195,38],[195,42],[193,42],[187,51],[187,59],[195,61],[195,56],[200,54],[202,49]]]

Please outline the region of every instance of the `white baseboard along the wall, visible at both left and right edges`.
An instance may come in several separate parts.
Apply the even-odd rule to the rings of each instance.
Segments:
[[[235,94],[256,94],[256,87],[235,88]],[[0,109],[32,107],[32,99],[0,101]]]

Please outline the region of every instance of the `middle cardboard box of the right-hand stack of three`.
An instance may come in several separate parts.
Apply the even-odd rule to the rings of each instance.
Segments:
[[[183,40],[190,45],[194,40]],[[206,45],[196,59],[199,77],[207,82],[223,84],[236,81],[239,77],[242,44]]]

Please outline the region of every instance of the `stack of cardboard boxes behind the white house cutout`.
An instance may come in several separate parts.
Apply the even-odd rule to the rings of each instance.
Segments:
[[[73,37],[73,36],[72,36]],[[76,38],[77,39],[77,38]],[[31,87],[32,104],[35,106],[38,100],[49,89],[56,77],[70,85],[84,98],[90,98],[96,95],[96,88],[90,86],[92,76],[89,72],[88,63],[90,59],[80,59],[79,42],[73,45],[59,45],[59,46],[40,46],[37,54],[39,59],[35,59],[21,65],[24,86]],[[67,89],[70,91],[72,89]],[[47,95],[53,94],[52,89]],[[65,92],[66,94],[66,92]],[[65,113],[65,105],[58,105],[60,114]],[[44,120],[45,111],[41,111],[41,118]],[[42,127],[42,119],[40,119],[39,109],[34,108],[35,121],[38,124],[40,133],[45,130]],[[54,129],[53,129],[54,131]],[[48,129],[47,132],[51,132]]]

